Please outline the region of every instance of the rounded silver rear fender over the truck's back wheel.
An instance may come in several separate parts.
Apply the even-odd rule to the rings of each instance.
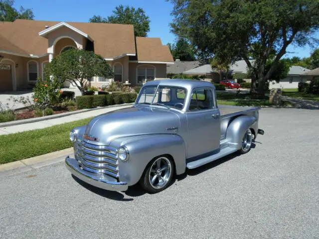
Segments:
[[[242,140],[247,129],[253,128],[255,132],[258,129],[258,120],[254,116],[240,116],[234,119],[226,131],[226,139],[229,147],[240,149]]]

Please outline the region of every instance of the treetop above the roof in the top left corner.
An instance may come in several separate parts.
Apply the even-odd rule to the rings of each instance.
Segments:
[[[13,7],[14,0],[0,0],[0,21],[14,21],[15,19],[33,19],[34,15],[30,8],[19,11]]]

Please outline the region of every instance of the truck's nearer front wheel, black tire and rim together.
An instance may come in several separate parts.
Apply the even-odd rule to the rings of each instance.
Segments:
[[[173,172],[174,164],[169,157],[156,157],[148,164],[140,184],[149,193],[159,193],[168,187]]]

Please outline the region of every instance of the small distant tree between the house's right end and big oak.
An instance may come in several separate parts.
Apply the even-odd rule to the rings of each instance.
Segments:
[[[168,43],[168,48],[172,54],[174,60],[179,59],[181,61],[195,61],[195,54],[193,47],[184,38],[179,38],[175,44]]]

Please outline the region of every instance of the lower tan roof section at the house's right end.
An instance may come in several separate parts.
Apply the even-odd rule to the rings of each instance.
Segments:
[[[139,61],[174,62],[168,46],[162,45],[159,37],[136,37]]]

